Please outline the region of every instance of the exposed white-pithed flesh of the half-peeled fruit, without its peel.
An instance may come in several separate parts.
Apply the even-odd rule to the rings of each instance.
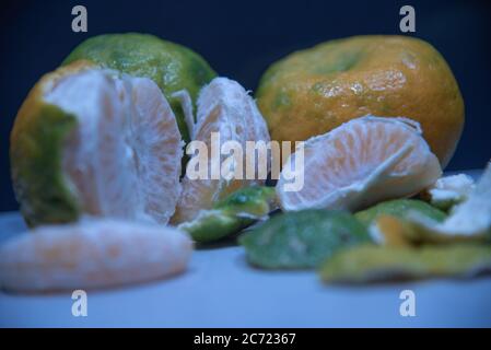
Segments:
[[[44,101],[78,120],[62,168],[84,213],[168,221],[180,194],[182,140],[153,81],[86,69],[49,86]]]

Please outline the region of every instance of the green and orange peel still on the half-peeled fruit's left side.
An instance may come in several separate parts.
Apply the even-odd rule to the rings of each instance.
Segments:
[[[10,162],[15,197],[30,226],[39,222],[70,222],[80,206],[61,174],[62,145],[77,127],[77,117],[43,95],[54,82],[92,65],[79,61],[44,75],[30,92],[15,117],[10,136]]]

